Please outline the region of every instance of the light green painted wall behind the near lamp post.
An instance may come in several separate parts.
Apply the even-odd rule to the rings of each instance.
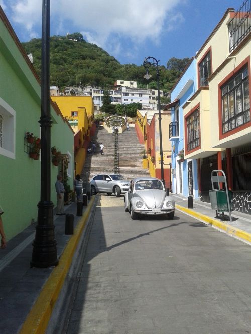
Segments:
[[[7,239],[23,231],[37,220],[40,201],[40,160],[29,157],[25,145],[25,133],[40,135],[41,87],[29,58],[0,8],[0,114],[7,109],[13,115],[13,149],[0,149],[0,205]],[[73,132],[62,116],[51,108],[52,145],[62,153],[73,156]],[[7,120],[4,119],[3,127]],[[9,125],[8,125],[9,126]],[[6,137],[3,137],[5,146]],[[11,152],[12,150],[12,152]],[[10,154],[9,154],[10,153]],[[55,202],[56,168],[51,165],[52,201]],[[73,160],[69,170],[73,171]],[[73,180],[69,180],[73,186]]]

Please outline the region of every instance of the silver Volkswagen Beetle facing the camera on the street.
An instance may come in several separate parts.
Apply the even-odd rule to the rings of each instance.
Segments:
[[[160,179],[140,177],[131,181],[124,195],[124,210],[130,212],[132,219],[137,219],[138,214],[167,214],[168,219],[173,219],[175,202],[167,196]]]

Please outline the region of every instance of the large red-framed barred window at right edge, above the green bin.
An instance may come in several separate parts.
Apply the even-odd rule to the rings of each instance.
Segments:
[[[221,87],[222,133],[250,121],[248,68],[244,67]]]

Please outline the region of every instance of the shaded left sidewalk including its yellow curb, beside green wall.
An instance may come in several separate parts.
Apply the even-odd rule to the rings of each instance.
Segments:
[[[45,331],[94,201],[95,197],[91,197],[82,216],[76,216],[77,203],[65,206],[65,213],[74,215],[73,235],[65,235],[66,216],[54,215],[57,267],[30,268],[36,225],[9,240],[7,248],[0,251],[1,334]]]

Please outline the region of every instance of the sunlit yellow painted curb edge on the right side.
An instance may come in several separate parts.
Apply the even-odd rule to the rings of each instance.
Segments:
[[[202,221],[208,223],[209,225],[215,226],[218,229],[223,230],[224,232],[226,232],[227,234],[229,234],[233,237],[237,237],[239,239],[251,242],[251,234],[248,233],[248,232],[242,231],[242,230],[240,230],[236,227],[233,227],[231,225],[228,225],[226,223],[219,222],[216,219],[213,219],[213,218],[210,218],[208,216],[202,215],[198,212],[195,212],[191,209],[187,209],[187,208],[182,207],[178,204],[176,204],[176,208],[179,209],[180,211],[188,213],[189,215],[191,215],[191,216],[193,216],[193,217],[195,217],[199,220],[202,220]]]

